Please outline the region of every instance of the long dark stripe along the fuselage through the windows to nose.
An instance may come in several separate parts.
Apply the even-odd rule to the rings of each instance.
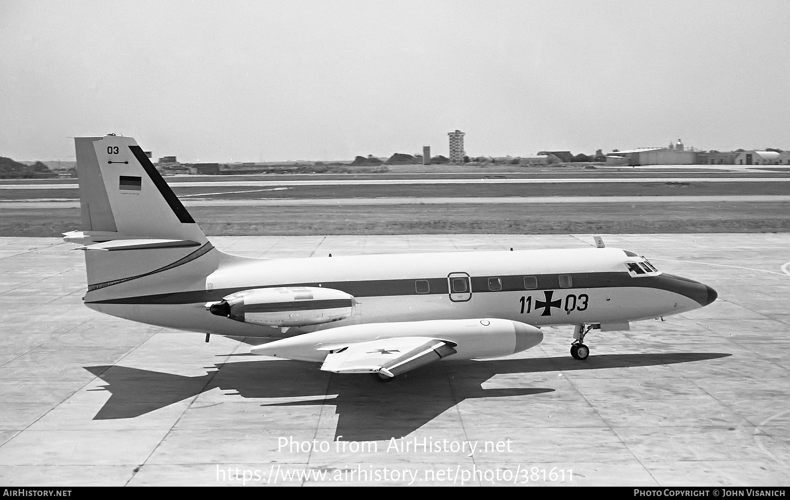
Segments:
[[[687,278],[662,274],[658,276],[642,276],[632,278],[627,272],[596,272],[596,273],[567,273],[570,275],[573,286],[561,288],[559,274],[532,275],[537,277],[538,286],[531,290],[524,288],[525,275],[510,276],[473,276],[472,294],[497,294],[499,292],[524,292],[529,294],[541,290],[578,290],[595,288],[654,288],[668,290],[675,294],[689,297],[700,304],[707,298],[707,290],[702,283],[694,282]],[[529,276],[529,275],[528,275]],[[488,278],[502,278],[502,290],[488,290]],[[284,286],[315,286],[340,290],[354,297],[397,297],[397,296],[424,296],[448,294],[447,278],[428,278],[430,291],[428,294],[417,294],[415,282],[424,281],[426,278],[412,279],[378,279],[367,281],[344,282],[306,282],[306,283],[280,283],[276,285],[243,286],[238,288],[222,288],[217,290],[194,290],[188,292],[175,292],[172,294],[145,295],[139,297],[123,297],[103,301],[89,301],[86,304],[150,304],[150,305],[177,305],[196,304],[211,301],[220,301],[222,297],[243,290],[257,288],[280,288]],[[480,286],[483,284],[484,286]]]

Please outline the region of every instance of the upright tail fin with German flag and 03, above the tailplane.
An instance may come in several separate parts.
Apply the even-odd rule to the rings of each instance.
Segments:
[[[208,241],[134,138],[78,137],[74,143],[82,241],[135,238],[190,240],[201,244]],[[77,241],[76,235],[71,241]]]

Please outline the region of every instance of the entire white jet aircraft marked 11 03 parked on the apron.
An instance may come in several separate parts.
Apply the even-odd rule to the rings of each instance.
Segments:
[[[627,330],[708,305],[716,291],[619,248],[250,259],[209,243],[133,138],[75,138],[91,309],[390,380],[439,359],[495,358],[574,326]]]

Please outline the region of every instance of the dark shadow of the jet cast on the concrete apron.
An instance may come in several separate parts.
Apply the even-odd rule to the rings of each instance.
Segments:
[[[338,415],[336,438],[377,441],[404,437],[463,400],[527,397],[554,391],[551,388],[482,388],[483,382],[501,373],[656,366],[729,355],[603,354],[591,356],[584,362],[562,356],[435,363],[386,383],[376,381],[372,376],[322,372],[307,363],[288,360],[222,363],[201,377],[126,366],[86,366],[85,369],[107,382],[104,389],[111,392],[110,399],[94,420],[131,419],[220,388],[222,391],[236,391],[244,398],[313,398],[261,405],[264,407],[335,405]]]

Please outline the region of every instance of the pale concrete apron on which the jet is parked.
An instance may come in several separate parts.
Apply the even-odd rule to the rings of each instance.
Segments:
[[[278,258],[581,248],[592,236],[212,241],[239,255]],[[308,486],[460,484],[474,470],[492,479],[481,474],[467,483],[786,484],[790,235],[623,234],[604,241],[713,286],[719,300],[664,322],[589,335],[586,362],[568,354],[570,327],[546,328],[544,343],[532,350],[435,363],[378,384],[248,356],[250,346],[232,339],[213,336],[206,344],[200,334],[103,316],[81,305],[85,266],[76,245],[0,238],[0,482],[240,485],[242,477],[228,474],[239,468],[258,472],[246,484],[275,476],[278,484]],[[447,445],[430,453],[391,447],[423,439]],[[342,444],[363,441],[375,449]],[[462,442],[481,448],[453,451]],[[363,470],[385,468],[389,479],[359,480]],[[515,479],[494,479],[497,469]]]

